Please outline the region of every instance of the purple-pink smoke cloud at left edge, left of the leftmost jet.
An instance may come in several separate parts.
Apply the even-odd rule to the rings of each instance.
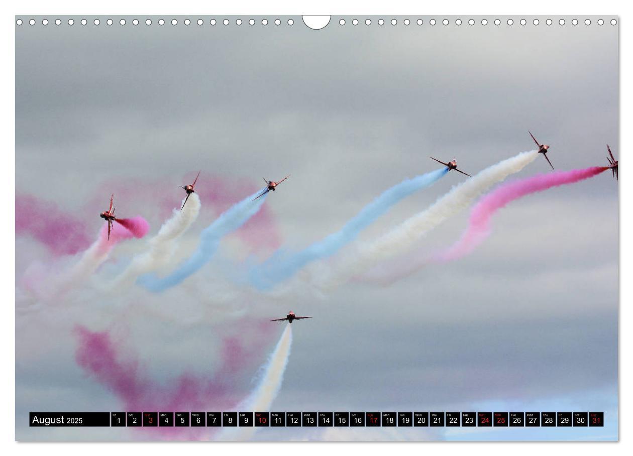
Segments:
[[[33,195],[15,197],[15,235],[31,235],[56,256],[74,255],[91,241],[80,219]]]

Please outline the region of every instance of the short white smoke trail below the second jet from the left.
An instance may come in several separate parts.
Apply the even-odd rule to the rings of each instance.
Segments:
[[[165,266],[173,256],[179,237],[196,221],[200,207],[200,198],[192,193],[182,211],[173,209],[172,217],[167,219],[156,236],[148,241],[149,249],[135,256],[128,267],[108,285],[108,289],[129,288],[141,274],[156,271]]]

